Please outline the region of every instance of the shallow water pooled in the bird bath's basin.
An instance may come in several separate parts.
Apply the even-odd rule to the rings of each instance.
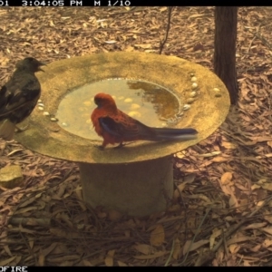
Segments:
[[[92,128],[91,113],[99,92],[112,95],[117,107],[131,117],[152,127],[165,127],[180,116],[178,97],[154,83],[127,79],[109,79],[90,83],[65,95],[56,118],[64,130],[92,140],[101,140]]]

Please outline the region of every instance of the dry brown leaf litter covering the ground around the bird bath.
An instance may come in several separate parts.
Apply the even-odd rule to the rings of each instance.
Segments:
[[[212,70],[213,13],[175,7],[162,53]],[[239,7],[238,106],[175,156],[165,212],[139,219],[89,210],[76,164],[0,141],[0,167],[24,174],[23,187],[0,188],[0,266],[271,266],[271,13]],[[158,53],[167,15],[167,7],[1,7],[1,84],[26,55]]]

